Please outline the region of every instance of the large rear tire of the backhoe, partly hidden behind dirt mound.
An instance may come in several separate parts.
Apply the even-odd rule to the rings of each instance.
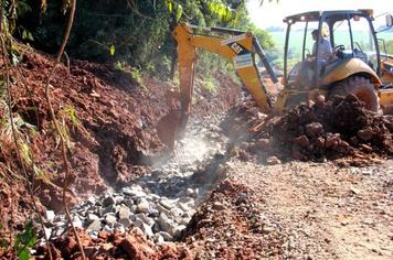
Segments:
[[[361,76],[352,76],[337,83],[330,90],[329,97],[353,95],[364,102],[364,107],[373,112],[380,112],[380,98],[374,86],[369,79]]]

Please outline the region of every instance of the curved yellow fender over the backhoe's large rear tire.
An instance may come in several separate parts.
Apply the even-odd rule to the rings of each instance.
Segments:
[[[381,85],[381,79],[375,74],[375,72],[372,71],[372,68],[370,68],[369,65],[367,65],[364,62],[360,61],[359,58],[349,58],[347,61],[343,61],[341,64],[339,64],[338,66],[333,67],[330,72],[328,72],[326,76],[321,78],[319,85],[322,86],[329,85],[331,83],[346,79],[349,76],[358,73],[369,74],[371,77],[371,83],[375,85]]]

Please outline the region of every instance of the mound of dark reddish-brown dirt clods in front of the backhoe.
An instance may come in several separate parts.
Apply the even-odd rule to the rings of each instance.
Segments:
[[[266,149],[282,159],[289,155],[301,161],[340,159],[342,165],[375,163],[393,154],[392,117],[370,112],[354,96],[314,106],[300,105],[268,119],[258,116],[252,104],[242,105],[233,112],[229,121],[248,128],[252,152]],[[242,117],[247,117],[247,121]],[[245,140],[244,130],[238,131],[236,127],[226,132]]]

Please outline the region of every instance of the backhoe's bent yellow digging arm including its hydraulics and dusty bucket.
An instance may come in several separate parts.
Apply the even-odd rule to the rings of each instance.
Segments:
[[[174,140],[182,138],[191,112],[197,48],[203,48],[230,59],[236,69],[238,77],[242,79],[244,87],[249,91],[261,110],[264,112],[270,112],[272,102],[255,64],[255,54],[257,54],[264,63],[272,80],[274,83],[278,82],[270,64],[266,59],[264,51],[252,33],[222,28],[205,29],[205,31],[209,32],[220,32],[231,35],[225,39],[214,35],[195,34],[193,28],[195,26],[179,23],[172,32],[173,37],[177,41],[181,108],[180,115],[176,116],[171,112],[170,116],[179,119],[177,124],[173,123],[172,120],[170,123],[171,126],[159,126],[160,129],[167,130],[167,138],[163,141],[172,149]],[[160,123],[162,124],[164,122],[160,121],[159,124]],[[170,137],[168,138],[168,136]]]

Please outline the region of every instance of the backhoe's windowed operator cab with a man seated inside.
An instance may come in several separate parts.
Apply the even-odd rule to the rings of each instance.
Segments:
[[[372,10],[314,11],[285,18],[285,86],[308,89],[341,80],[348,76],[337,73],[341,69],[329,73],[351,58],[362,61],[362,69],[378,77],[380,50],[372,21]],[[311,32],[316,30],[314,41]],[[328,56],[328,51],[321,50],[327,43],[331,52]]]

